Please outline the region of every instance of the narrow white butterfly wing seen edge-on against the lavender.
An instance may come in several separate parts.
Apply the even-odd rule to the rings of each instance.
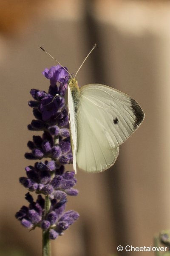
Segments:
[[[71,147],[73,152],[73,169],[75,174],[77,173],[76,169],[76,151],[77,151],[77,127],[75,122],[75,110],[74,110],[74,102],[71,95],[70,87],[68,86],[67,92],[67,104],[68,104],[68,118],[70,124],[70,133],[71,133]]]

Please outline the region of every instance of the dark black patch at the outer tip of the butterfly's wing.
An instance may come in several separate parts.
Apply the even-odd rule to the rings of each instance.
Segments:
[[[133,128],[136,130],[144,119],[144,113],[142,108],[134,99],[130,99],[130,102],[133,114],[135,115],[135,123],[133,124]]]

